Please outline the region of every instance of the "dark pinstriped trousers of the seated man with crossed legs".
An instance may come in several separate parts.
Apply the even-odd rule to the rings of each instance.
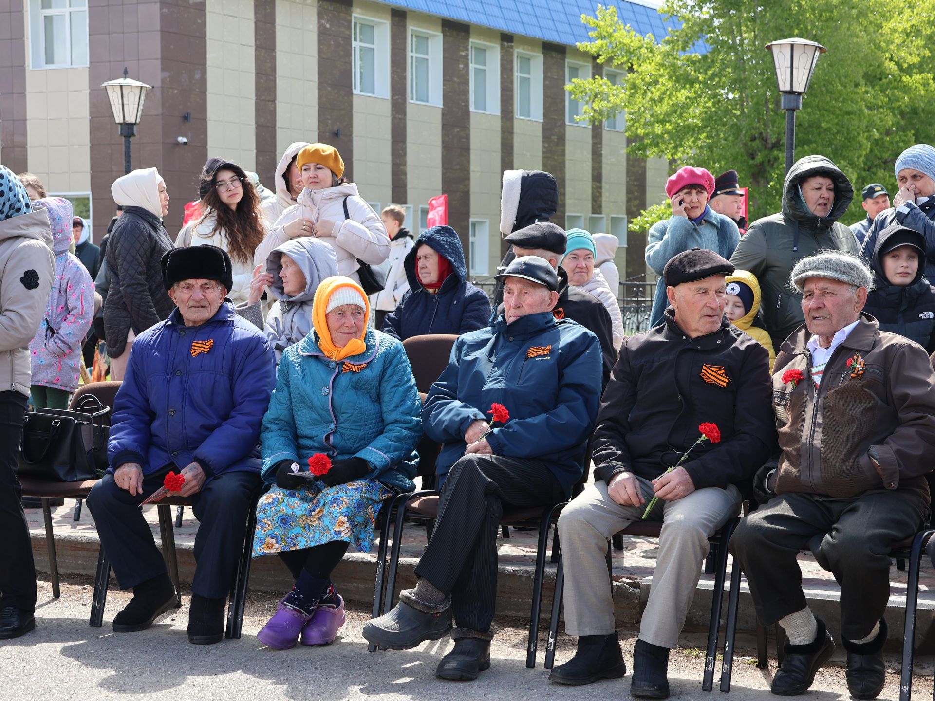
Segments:
[[[496,535],[503,508],[548,506],[566,499],[539,460],[465,455],[448,474],[439,521],[415,574],[452,595],[459,628],[490,630],[496,604]]]

